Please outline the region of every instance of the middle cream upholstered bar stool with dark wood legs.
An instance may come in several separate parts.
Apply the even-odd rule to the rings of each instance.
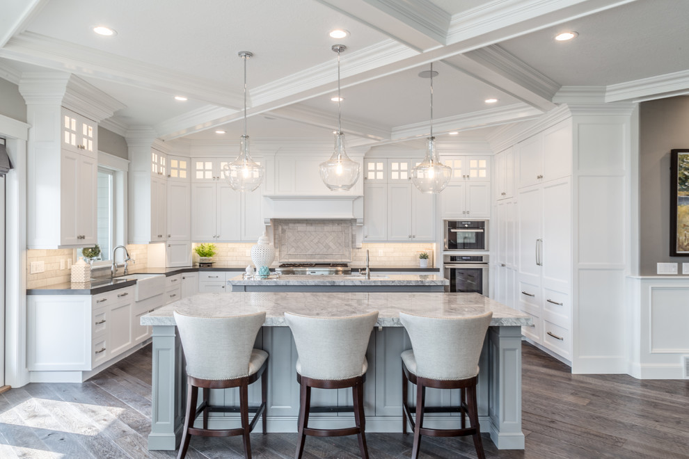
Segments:
[[[363,384],[368,362],[366,348],[378,312],[350,317],[313,317],[285,312],[292,329],[296,352],[296,380],[299,383],[299,443],[296,459],[304,450],[306,435],[335,437],[357,435],[361,457],[368,458],[366,447]],[[354,401],[354,427],[320,429],[308,427],[311,388],[351,387]]]

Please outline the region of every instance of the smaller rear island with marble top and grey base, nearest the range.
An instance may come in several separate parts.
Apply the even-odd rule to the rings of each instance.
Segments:
[[[267,279],[244,279],[237,275],[228,280],[232,291],[370,291],[370,292],[442,292],[450,281],[437,274],[362,274],[281,275]]]

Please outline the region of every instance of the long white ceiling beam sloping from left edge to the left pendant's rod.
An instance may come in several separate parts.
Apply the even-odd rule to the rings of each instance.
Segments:
[[[37,33],[15,35],[0,49],[0,57],[40,65],[54,70],[125,83],[168,94],[185,94],[213,104],[241,106],[244,95],[230,92],[216,81],[171,72],[116,54],[106,53]]]

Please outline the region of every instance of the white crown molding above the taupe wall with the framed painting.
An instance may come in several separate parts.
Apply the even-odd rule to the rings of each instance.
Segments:
[[[608,86],[605,102],[642,102],[689,92],[689,70],[643,78]]]

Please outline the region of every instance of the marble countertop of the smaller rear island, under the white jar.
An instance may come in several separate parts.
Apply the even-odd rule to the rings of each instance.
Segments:
[[[371,274],[365,275],[280,275],[268,279],[244,279],[237,275],[228,280],[230,285],[450,285],[450,281],[437,274]]]

